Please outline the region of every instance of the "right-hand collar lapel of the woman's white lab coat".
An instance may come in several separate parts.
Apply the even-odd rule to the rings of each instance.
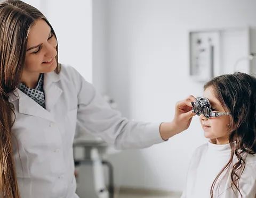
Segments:
[[[61,96],[62,89],[58,87],[57,82],[60,80],[60,74],[55,72],[44,74],[44,97],[46,110],[52,110]]]

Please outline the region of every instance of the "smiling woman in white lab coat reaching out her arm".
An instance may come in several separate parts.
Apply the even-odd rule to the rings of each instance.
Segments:
[[[0,197],[78,197],[75,132],[117,148],[149,147],[188,128],[194,99],[178,102],[170,123],[129,121],[73,67],[58,63],[57,37],[41,12],[1,3]]]

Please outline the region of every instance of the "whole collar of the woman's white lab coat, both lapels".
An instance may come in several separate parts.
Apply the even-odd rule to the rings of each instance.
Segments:
[[[44,94],[45,94],[45,106],[44,109],[36,101],[31,99],[27,94],[23,93],[18,88],[9,93],[9,101],[13,102],[19,99],[19,113],[41,117],[54,122],[54,117],[51,114],[52,107],[56,104],[61,96],[62,89],[58,87],[54,82],[60,80],[59,74],[55,72],[44,74]]]

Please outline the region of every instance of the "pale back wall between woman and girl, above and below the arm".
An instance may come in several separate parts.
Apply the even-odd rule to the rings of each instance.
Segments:
[[[203,93],[188,76],[189,30],[256,25],[252,0],[107,2],[107,91],[123,115],[137,120],[171,120],[175,102]],[[182,191],[191,153],[203,142],[195,117],[166,143],[115,154],[109,160],[116,185]]]

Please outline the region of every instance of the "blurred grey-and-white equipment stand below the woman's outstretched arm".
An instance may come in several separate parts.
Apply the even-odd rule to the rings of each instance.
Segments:
[[[77,194],[80,197],[113,198],[113,166],[110,162],[103,160],[102,157],[109,148],[107,143],[101,139],[79,137],[79,139],[74,140],[73,147],[75,165],[79,165]],[[84,149],[82,158],[76,156],[77,148]],[[108,188],[105,185],[103,166],[108,168]]]

